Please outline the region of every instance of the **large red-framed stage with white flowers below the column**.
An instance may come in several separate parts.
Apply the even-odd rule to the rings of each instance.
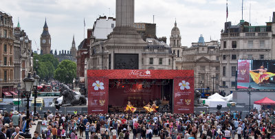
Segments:
[[[140,112],[154,101],[162,112],[194,111],[193,70],[88,70],[87,75],[89,113],[123,112],[128,101]]]

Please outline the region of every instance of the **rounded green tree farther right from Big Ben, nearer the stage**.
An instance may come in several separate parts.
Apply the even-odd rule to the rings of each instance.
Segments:
[[[76,78],[76,63],[69,60],[61,61],[54,71],[54,78],[61,83],[73,83]]]

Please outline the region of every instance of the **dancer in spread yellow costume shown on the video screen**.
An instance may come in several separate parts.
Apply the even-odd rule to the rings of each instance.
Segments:
[[[256,84],[261,85],[263,81],[267,81],[270,77],[275,76],[275,74],[267,72],[267,69],[262,65],[260,69],[250,70],[250,76]]]

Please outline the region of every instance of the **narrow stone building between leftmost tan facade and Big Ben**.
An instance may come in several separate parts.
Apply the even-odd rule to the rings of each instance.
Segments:
[[[14,83],[20,81],[33,72],[32,41],[24,30],[21,30],[19,22],[14,28]]]

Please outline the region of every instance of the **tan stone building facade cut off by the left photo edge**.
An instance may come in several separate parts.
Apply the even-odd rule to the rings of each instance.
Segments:
[[[14,89],[14,34],[12,16],[0,12],[0,92],[1,98],[12,97]]]

